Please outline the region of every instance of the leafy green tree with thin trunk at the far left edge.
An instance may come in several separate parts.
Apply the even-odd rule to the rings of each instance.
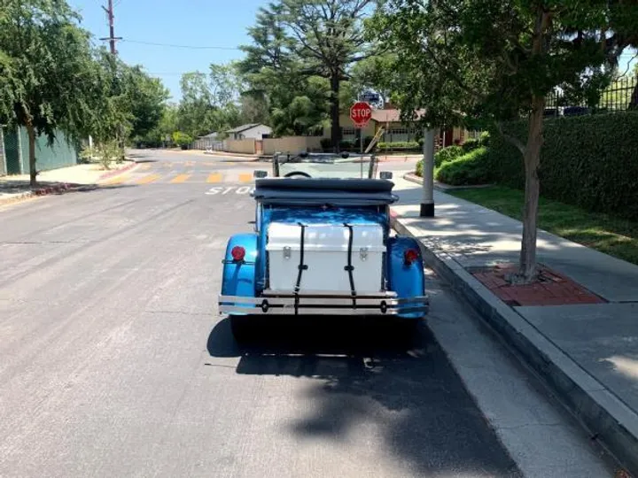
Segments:
[[[27,129],[29,176],[37,182],[35,139],[87,132],[99,94],[88,32],[64,0],[4,0],[0,12],[0,123]]]

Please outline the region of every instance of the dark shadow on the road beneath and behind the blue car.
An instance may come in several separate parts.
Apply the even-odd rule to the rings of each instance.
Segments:
[[[373,423],[411,475],[520,476],[424,324],[407,336],[383,320],[268,319],[255,335],[239,347],[222,320],[208,351],[239,357],[237,374],[310,379],[300,399],[312,405],[288,426],[299,439],[344,441]]]

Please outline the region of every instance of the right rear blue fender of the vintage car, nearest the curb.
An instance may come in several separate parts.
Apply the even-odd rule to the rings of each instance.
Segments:
[[[405,251],[417,251],[418,258],[406,265]],[[420,297],[425,295],[424,261],[421,249],[411,237],[395,236],[388,240],[387,274],[389,289],[396,292],[399,298]],[[420,319],[424,312],[399,314],[404,319]]]

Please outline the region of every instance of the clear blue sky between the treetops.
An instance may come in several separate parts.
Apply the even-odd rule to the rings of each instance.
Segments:
[[[266,0],[113,0],[115,36],[121,58],[129,65],[142,65],[146,72],[164,81],[178,101],[182,73],[207,72],[211,63],[243,58],[240,50],[186,49],[145,45],[165,43],[198,47],[237,48],[250,43],[246,28],[252,27]],[[94,41],[108,36],[108,22],[102,5],[106,0],[69,0],[82,15],[82,27]],[[127,41],[128,40],[128,41]]]

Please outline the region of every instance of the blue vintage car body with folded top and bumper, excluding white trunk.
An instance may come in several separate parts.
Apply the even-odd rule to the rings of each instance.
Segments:
[[[253,193],[254,231],[231,236],[226,248],[220,312],[232,316],[334,313],[423,318],[429,304],[423,258],[414,239],[391,234],[389,207],[396,200],[392,187],[392,182],[377,179],[257,180]],[[267,243],[272,223],[306,227],[356,223],[381,227],[385,248],[383,286],[378,293],[364,296],[354,290],[352,294],[347,291],[306,295],[303,291],[284,293],[269,289]],[[233,256],[237,247],[245,251],[240,260]]]

